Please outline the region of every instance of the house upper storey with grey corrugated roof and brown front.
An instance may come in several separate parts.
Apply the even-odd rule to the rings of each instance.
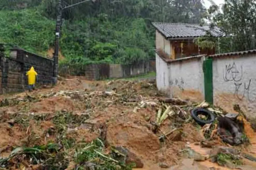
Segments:
[[[210,30],[209,26],[185,23],[152,23],[156,28],[156,49],[164,52],[168,58],[177,59],[200,54],[215,54],[215,48],[201,48],[193,40],[206,36],[222,36],[220,30]]]

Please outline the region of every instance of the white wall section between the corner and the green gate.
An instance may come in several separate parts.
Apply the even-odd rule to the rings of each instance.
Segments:
[[[177,89],[199,91],[204,94],[204,77],[202,58],[181,60],[170,64],[171,94],[175,95]]]

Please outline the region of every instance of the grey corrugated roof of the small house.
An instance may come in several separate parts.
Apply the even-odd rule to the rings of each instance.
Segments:
[[[152,24],[166,38],[202,37],[210,30],[209,26],[201,27],[199,24],[161,22],[153,22]],[[211,34],[215,37],[222,37],[224,35],[218,28],[212,30]]]

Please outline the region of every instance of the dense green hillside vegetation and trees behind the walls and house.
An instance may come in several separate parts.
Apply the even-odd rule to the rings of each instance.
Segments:
[[[80,1],[65,0],[63,5]],[[255,4],[255,0],[225,0],[216,6],[212,1],[207,11],[201,0],[85,2],[63,11],[60,48],[65,62],[133,64],[154,57],[152,21],[200,23],[207,18],[232,35],[221,39],[220,52],[248,50],[255,48]],[[57,0],[0,1],[0,41],[45,53],[54,46],[56,5]],[[197,43],[218,46],[211,37]]]

